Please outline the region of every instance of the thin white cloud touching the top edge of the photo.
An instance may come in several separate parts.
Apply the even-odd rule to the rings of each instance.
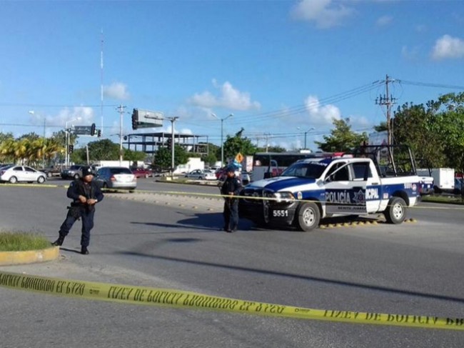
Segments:
[[[295,19],[314,21],[318,28],[327,29],[341,25],[343,19],[355,12],[343,4],[332,3],[332,0],[301,0],[293,6],[291,15]]]

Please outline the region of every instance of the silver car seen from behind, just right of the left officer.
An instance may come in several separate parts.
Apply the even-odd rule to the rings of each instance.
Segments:
[[[96,171],[96,182],[106,189],[129,189],[137,187],[137,178],[131,169],[125,166],[102,166]]]

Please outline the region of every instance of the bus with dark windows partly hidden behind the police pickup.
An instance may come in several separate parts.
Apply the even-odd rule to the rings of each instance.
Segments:
[[[288,166],[298,159],[343,156],[344,152],[308,152],[308,151],[286,151],[286,152],[257,152],[253,155],[253,169],[251,181],[278,177]]]

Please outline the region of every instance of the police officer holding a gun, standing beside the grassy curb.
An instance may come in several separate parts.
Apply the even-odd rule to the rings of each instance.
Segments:
[[[81,254],[89,254],[90,231],[94,227],[95,204],[101,202],[104,198],[99,184],[93,181],[94,174],[89,166],[82,167],[82,177],[71,182],[66,195],[71,198],[71,207],[68,207],[69,212],[66,219],[61,224],[59,237],[52,244],[61,246],[64,242],[64,237],[69,234],[69,230],[73,227],[76,220],[82,219],[82,235],[81,235]]]

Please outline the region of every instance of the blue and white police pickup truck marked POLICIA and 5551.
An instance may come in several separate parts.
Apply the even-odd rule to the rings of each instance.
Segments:
[[[296,161],[279,177],[244,187],[239,214],[263,227],[284,224],[304,232],[343,215],[383,213],[387,222],[400,224],[423,187],[410,149],[401,149],[363,146],[352,155]]]

